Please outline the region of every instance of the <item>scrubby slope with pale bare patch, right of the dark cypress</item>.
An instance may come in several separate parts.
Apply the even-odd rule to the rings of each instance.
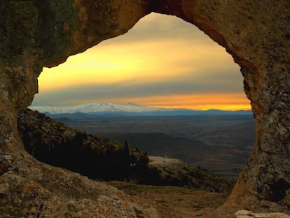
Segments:
[[[149,157],[149,170],[142,184],[186,186],[195,189],[226,193],[233,189],[234,182],[220,175],[167,157]]]

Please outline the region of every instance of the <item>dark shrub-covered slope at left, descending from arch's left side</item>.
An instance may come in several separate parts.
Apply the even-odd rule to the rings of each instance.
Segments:
[[[69,128],[30,109],[18,116],[18,130],[36,159],[91,179],[129,179],[130,171],[143,173],[149,162],[139,149]]]

